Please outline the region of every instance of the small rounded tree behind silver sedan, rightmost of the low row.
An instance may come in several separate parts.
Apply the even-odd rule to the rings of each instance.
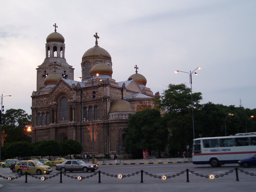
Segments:
[[[61,155],[62,156],[70,155],[70,159],[71,159],[71,154],[80,154],[83,150],[82,145],[79,142],[72,139],[62,141],[60,142],[60,144],[62,147]]]

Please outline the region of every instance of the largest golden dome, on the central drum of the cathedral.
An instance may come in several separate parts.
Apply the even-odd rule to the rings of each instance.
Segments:
[[[102,58],[108,58],[108,59],[111,59],[111,56],[109,54],[108,51],[106,51],[105,49],[101,48],[100,46],[98,46],[98,44],[96,44],[94,47],[88,49],[84,54],[83,54],[83,57],[82,57],[82,60],[83,59],[86,59],[86,58],[90,58],[90,57],[93,57],[93,58],[98,58],[98,57],[102,57]]]

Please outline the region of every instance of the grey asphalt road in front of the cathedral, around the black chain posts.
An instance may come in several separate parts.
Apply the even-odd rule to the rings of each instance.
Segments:
[[[236,181],[236,170],[238,178]],[[66,172],[62,174],[60,183],[59,171],[55,170],[49,175],[36,175],[18,177],[9,168],[0,167],[0,191],[254,191],[256,181],[256,167],[243,168],[236,164],[217,168],[209,165],[193,165],[192,163],[149,164],[149,165],[101,165],[98,172]],[[187,173],[188,180],[187,182]],[[141,170],[143,170],[143,179]],[[249,173],[249,174],[246,174]],[[58,175],[57,175],[58,174]],[[119,174],[123,175],[119,179]],[[215,179],[210,180],[209,175]],[[252,175],[250,175],[252,174]],[[119,175],[119,176],[118,176]],[[167,176],[167,180],[164,179]],[[45,181],[40,178],[44,176]],[[81,176],[82,180],[78,178]],[[5,178],[3,178],[5,177]],[[8,181],[6,178],[14,177]],[[163,179],[162,179],[163,177]],[[141,183],[143,181],[143,183]]]

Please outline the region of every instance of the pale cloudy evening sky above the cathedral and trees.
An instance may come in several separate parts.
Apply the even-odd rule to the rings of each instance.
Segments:
[[[193,92],[202,103],[256,108],[255,0],[141,1],[2,1],[0,12],[0,92],[5,111],[31,114],[36,68],[45,58],[46,37],[65,38],[65,57],[81,76],[81,61],[95,45],[113,62],[113,79],[125,81],[135,73],[147,79],[155,93],[168,84],[185,83],[192,74]],[[232,111],[230,111],[232,112]]]

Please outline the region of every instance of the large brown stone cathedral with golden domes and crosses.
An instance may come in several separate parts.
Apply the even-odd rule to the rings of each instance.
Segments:
[[[153,94],[146,78],[138,73],[124,81],[112,79],[108,51],[95,45],[82,55],[81,77],[74,80],[74,68],[65,58],[65,39],[55,30],[46,38],[45,59],[37,70],[36,91],[32,92],[32,142],[73,139],[81,153],[110,154],[124,151],[124,128],[129,114],[153,109]],[[116,63],[115,65],[119,65]]]

